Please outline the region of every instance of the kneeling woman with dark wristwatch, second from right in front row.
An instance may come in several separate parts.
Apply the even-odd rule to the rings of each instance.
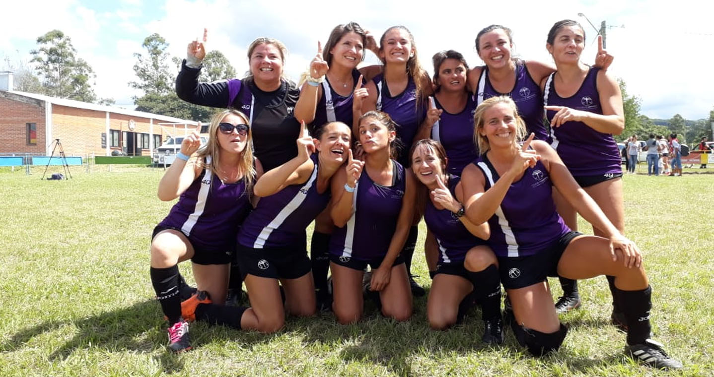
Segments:
[[[503,343],[501,282],[496,256],[484,239],[488,224],[478,226],[463,217],[461,179],[446,173],[446,151],[438,141],[416,142],[411,152],[424,221],[436,236],[438,268],[426,304],[432,329],[446,329],[461,321],[473,300],[481,303],[486,344]]]

